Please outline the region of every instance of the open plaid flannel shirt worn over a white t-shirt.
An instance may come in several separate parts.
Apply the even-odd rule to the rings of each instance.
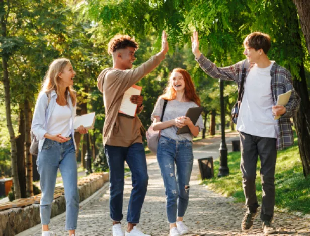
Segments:
[[[239,91],[241,84],[241,80],[239,80],[239,74],[242,72],[241,69],[243,61],[240,61],[237,64],[231,66],[218,68],[214,63],[212,63],[202,54],[199,58],[195,58],[195,60],[199,63],[203,71],[209,76],[217,78],[219,80],[235,81],[238,85]],[[254,63],[252,63],[251,66],[248,68],[245,81],[250,69],[253,66]],[[280,119],[278,119],[279,133],[277,134],[277,150],[282,150],[294,144],[294,136],[290,117],[292,117],[295,112],[297,112],[300,105],[300,97],[292,85],[292,76],[287,69],[274,62],[270,70],[270,75],[270,86],[274,105],[277,104],[278,96],[280,94],[292,90],[289,101],[285,106],[286,112],[280,117]]]

